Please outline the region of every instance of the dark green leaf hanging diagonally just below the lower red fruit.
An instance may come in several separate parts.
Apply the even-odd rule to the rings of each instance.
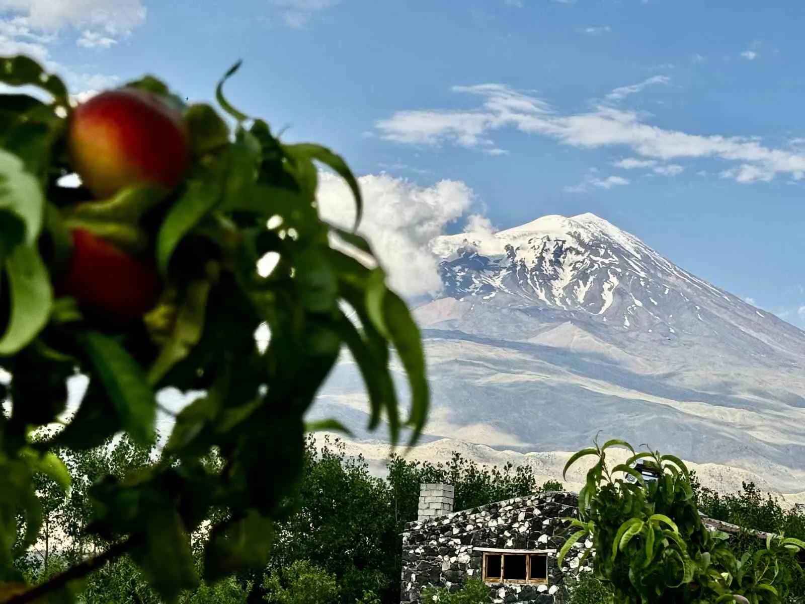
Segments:
[[[150,445],[154,441],[156,399],[142,368],[117,341],[102,333],[82,332],[78,341],[123,428],[139,445]]]

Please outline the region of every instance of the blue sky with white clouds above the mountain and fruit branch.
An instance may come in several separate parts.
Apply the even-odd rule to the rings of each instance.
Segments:
[[[154,72],[194,101],[243,59],[229,97],[345,155],[408,293],[432,285],[427,240],[469,217],[593,212],[805,327],[798,6],[0,0],[0,51],[46,60],[76,94]]]

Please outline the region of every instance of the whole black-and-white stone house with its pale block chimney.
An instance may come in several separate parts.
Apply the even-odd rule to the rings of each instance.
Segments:
[[[575,515],[577,504],[576,494],[551,492],[453,511],[452,486],[422,485],[418,519],[403,532],[401,602],[420,604],[427,585],[458,588],[468,577],[483,578],[494,602],[564,602],[566,573],[592,548],[590,541],[576,544],[559,569],[563,518]]]

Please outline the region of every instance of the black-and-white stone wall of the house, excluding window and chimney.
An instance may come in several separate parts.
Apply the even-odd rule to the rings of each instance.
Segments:
[[[576,514],[577,501],[572,493],[537,494],[409,523],[403,533],[401,602],[419,604],[427,585],[457,590],[468,577],[480,577],[484,548],[548,552],[547,584],[488,583],[494,602],[563,602],[565,573],[575,572],[584,548],[592,547],[589,541],[576,544],[568,566],[557,567],[567,538],[562,518]]]

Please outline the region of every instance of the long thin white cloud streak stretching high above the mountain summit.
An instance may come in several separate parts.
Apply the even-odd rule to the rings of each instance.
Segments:
[[[484,102],[476,110],[399,111],[377,122],[380,134],[399,143],[452,143],[483,149],[495,147],[491,139],[495,131],[514,128],[573,147],[625,147],[638,159],[721,159],[733,163],[725,174],[739,183],[769,181],[778,175],[794,180],[805,176],[805,154],[766,147],[757,138],[669,130],[647,123],[646,116],[637,112],[605,105],[563,115],[542,99],[499,84],[454,90],[479,94]]]

